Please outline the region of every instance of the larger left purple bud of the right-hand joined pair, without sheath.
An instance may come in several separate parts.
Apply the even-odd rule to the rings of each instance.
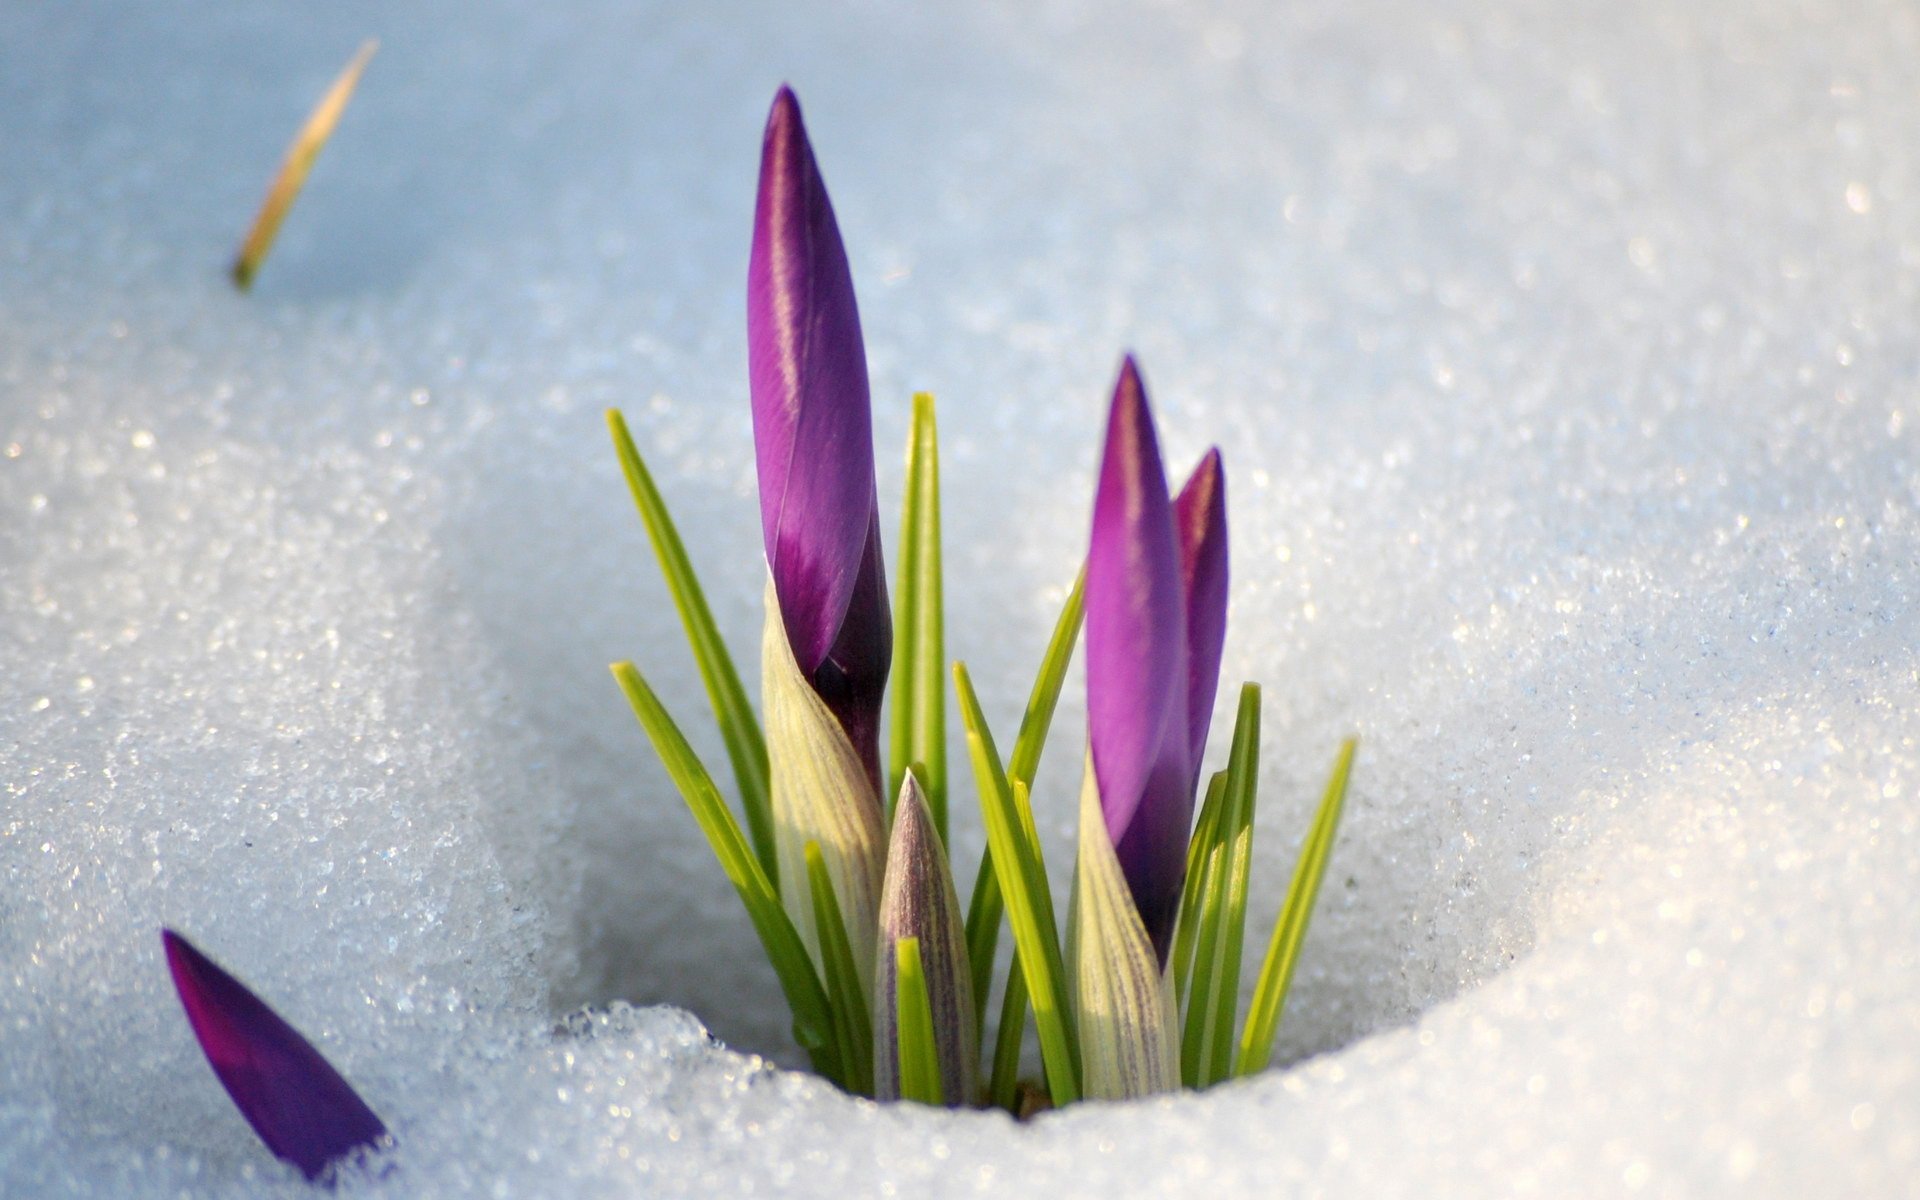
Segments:
[[[1162,962],[1192,826],[1187,682],[1181,541],[1146,388],[1127,357],[1087,551],[1087,726],[1106,829]]]

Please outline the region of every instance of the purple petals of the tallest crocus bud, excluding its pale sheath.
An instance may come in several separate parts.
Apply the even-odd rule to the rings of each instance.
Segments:
[[[833,204],[801,104],[785,86],[760,144],[747,363],[760,532],[787,645],[879,791],[893,618],[879,557],[866,346]]]

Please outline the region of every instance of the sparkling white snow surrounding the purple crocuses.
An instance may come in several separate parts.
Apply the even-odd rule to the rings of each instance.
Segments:
[[[307,1194],[161,924],[396,1129],[353,1194],[1920,1194],[1914,63],[1901,2],[6,6],[0,1194]],[[1225,447],[1256,914],[1363,739],[1290,1068],[1016,1127],[751,1054],[605,672],[703,728],[601,409],[751,662],[781,79],[1002,730],[1119,351]]]

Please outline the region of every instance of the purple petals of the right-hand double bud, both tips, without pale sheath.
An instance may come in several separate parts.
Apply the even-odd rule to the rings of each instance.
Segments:
[[[1087,553],[1087,724],[1100,810],[1162,964],[1227,632],[1219,451],[1179,501],[1129,357],[1114,388]]]

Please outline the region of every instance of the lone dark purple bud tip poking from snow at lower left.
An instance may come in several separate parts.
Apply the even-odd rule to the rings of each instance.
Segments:
[[[307,1039],[173,929],[159,931],[186,1021],[259,1140],[319,1179],[386,1125]]]

